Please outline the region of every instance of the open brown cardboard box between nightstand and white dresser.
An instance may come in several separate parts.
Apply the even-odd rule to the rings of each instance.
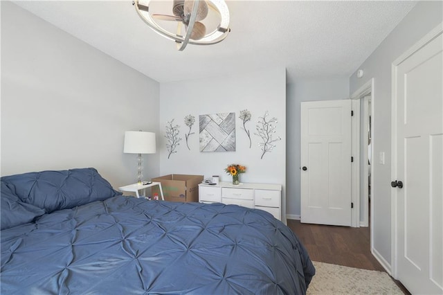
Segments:
[[[153,178],[152,181],[161,183],[165,201],[199,202],[199,184],[203,179],[203,175],[170,174]],[[153,187],[151,193],[157,193],[160,197],[159,187]]]

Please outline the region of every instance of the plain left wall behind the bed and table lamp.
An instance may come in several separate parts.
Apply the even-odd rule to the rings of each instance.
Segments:
[[[158,132],[159,83],[1,1],[1,175],[94,167],[136,181],[126,130]],[[146,178],[159,155],[145,155]]]

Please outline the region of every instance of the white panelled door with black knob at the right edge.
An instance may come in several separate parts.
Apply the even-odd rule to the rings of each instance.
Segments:
[[[412,294],[443,294],[442,44],[440,33],[394,68],[397,278]]]

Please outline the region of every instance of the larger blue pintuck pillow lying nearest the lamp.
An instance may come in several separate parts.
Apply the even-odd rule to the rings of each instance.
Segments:
[[[94,168],[30,172],[1,177],[21,202],[46,213],[108,199],[122,193],[114,190]]]

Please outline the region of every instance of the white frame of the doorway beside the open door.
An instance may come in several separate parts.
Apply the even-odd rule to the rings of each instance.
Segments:
[[[354,110],[354,120],[352,120],[352,154],[354,154],[354,170],[352,170],[352,199],[354,200],[354,204],[356,209],[354,212],[354,219],[353,219],[353,224],[355,224],[355,227],[360,227],[360,226],[368,226],[369,225],[369,215],[365,215],[363,216],[363,221],[360,221],[360,208],[363,208],[363,212],[369,212],[369,199],[368,196],[366,196],[363,199],[363,204],[361,204],[360,199],[361,199],[361,195],[360,195],[360,183],[361,183],[361,179],[360,179],[360,101],[361,99],[365,98],[365,96],[369,96],[371,97],[371,109],[370,109],[370,114],[371,114],[371,118],[372,118],[372,123],[374,122],[374,78],[371,78],[370,80],[368,80],[367,82],[365,82],[365,84],[363,84],[363,86],[361,86],[359,89],[357,89],[356,91],[354,91],[354,93],[352,93],[351,99],[352,99],[352,109]],[[371,143],[372,143],[372,149],[371,149],[371,159],[372,162],[374,162],[374,138],[375,138],[375,134],[374,134],[374,128],[372,128],[372,139],[371,139]],[[374,165],[371,165],[371,197],[374,197],[374,181],[372,181],[373,177],[374,177]],[[374,210],[372,208],[374,202],[371,202],[371,220],[373,221],[374,219]],[[371,251],[374,248],[374,244],[372,244],[372,237],[373,237],[373,232],[372,232],[373,226],[371,226],[370,228],[370,243],[371,243]]]

